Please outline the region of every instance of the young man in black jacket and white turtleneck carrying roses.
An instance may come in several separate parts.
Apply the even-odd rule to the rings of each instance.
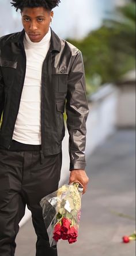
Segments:
[[[0,256],[13,256],[25,205],[37,235],[36,256],[56,256],[39,205],[57,190],[69,130],[70,180],[86,191],[88,105],[81,52],[50,28],[59,0],[13,0],[22,32],[0,39]]]

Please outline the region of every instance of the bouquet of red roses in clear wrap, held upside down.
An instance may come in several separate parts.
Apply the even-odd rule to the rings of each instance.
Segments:
[[[79,183],[71,183],[41,199],[50,246],[54,246],[59,239],[69,243],[77,241],[82,190]]]

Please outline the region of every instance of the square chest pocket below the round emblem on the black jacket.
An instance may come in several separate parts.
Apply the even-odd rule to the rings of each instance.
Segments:
[[[55,92],[67,92],[67,76],[66,73],[52,75],[52,86]]]

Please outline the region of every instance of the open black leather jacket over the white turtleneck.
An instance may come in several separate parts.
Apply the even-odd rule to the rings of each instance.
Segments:
[[[0,38],[0,145],[10,148],[24,84],[24,30]],[[51,30],[51,45],[41,75],[41,154],[61,151],[67,113],[70,169],[85,169],[88,103],[81,52]]]

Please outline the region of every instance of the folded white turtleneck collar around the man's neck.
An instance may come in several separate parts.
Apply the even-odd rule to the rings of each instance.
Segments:
[[[31,44],[32,46],[41,46],[45,43],[47,43],[48,41],[50,41],[51,39],[51,28],[49,28],[47,34],[44,36],[43,39],[40,40],[40,42],[37,43],[33,43],[30,39],[29,36],[27,35],[27,33],[25,32],[25,36],[24,36],[24,40],[28,43]]]

